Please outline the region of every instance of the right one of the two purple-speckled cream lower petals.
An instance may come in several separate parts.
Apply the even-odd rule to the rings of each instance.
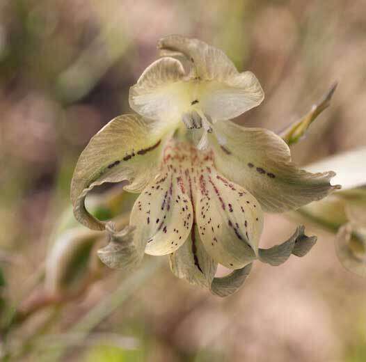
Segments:
[[[196,219],[207,253],[229,269],[244,267],[257,255],[263,228],[260,204],[214,171],[202,173],[199,182]]]

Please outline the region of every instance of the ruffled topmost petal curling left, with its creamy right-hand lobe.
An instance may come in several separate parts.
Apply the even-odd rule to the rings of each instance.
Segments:
[[[200,108],[212,120],[227,120],[256,107],[264,92],[252,72],[239,73],[220,49],[198,39],[167,36],[158,42],[162,55],[184,54],[199,85]]]

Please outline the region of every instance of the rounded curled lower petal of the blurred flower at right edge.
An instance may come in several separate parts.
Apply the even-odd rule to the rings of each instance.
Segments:
[[[366,276],[366,229],[347,223],[338,230],[335,252],[342,265],[359,276]]]

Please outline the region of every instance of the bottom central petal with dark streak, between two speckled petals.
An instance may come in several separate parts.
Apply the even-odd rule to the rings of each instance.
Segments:
[[[169,255],[169,264],[177,278],[184,278],[203,288],[209,288],[217,269],[217,262],[212,260],[202,244],[197,226],[191,228],[180,249]]]

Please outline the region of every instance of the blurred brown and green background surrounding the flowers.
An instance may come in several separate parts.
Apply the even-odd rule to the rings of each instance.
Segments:
[[[266,98],[238,119],[249,126],[280,131],[339,81],[331,107],[293,147],[299,164],[366,145],[365,8],[364,0],[1,0],[0,305],[11,314],[37,294],[77,158],[111,118],[132,112],[129,87],[162,36],[200,38],[256,74]],[[261,246],[295,226],[269,215]],[[77,298],[19,323],[16,359],[3,358],[366,361],[366,281],[340,265],[334,235],[311,225],[307,233],[319,237],[309,255],[255,263],[227,299],[175,278],[165,258],[146,258],[134,274],[103,271]]]

